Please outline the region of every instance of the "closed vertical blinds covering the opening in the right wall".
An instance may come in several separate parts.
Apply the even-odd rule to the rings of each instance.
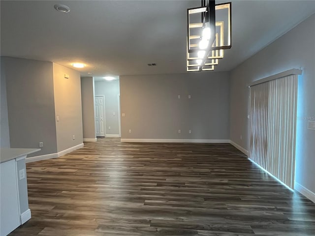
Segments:
[[[294,188],[297,75],[251,87],[249,157]]]

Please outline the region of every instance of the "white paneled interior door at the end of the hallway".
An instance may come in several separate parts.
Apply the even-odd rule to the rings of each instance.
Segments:
[[[96,137],[105,137],[105,98],[104,95],[95,96],[95,125]]]

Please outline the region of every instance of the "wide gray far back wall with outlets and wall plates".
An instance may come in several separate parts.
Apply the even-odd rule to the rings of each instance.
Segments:
[[[122,138],[229,139],[229,86],[228,72],[121,76]]]

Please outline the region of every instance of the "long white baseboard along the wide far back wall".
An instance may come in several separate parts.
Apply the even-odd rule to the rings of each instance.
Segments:
[[[226,143],[227,139],[121,139],[121,142],[130,143]]]

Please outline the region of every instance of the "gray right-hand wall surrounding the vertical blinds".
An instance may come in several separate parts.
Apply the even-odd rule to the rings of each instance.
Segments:
[[[298,95],[298,134],[295,180],[315,192],[315,131],[307,129],[315,118],[315,15],[290,30],[231,72],[231,140],[248,150],[250,82],[291,68],[302,68]],[[240,139],[240,136],[243,139]]]

